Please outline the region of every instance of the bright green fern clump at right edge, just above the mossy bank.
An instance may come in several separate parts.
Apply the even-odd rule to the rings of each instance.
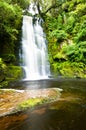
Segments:
[[[66,46],[64,47],[64,53],[70,61],[86,63],[86,42]]]

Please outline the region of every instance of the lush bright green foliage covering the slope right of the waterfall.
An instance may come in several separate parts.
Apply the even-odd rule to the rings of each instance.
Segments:
[[[86,78],[85,0],[58,0],[57,8],[46,15],[44,27],[51,68],[58,75]]]

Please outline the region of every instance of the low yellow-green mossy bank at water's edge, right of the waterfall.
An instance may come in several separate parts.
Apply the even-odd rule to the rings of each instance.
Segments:
[[[64,77],[86,78],[86,65],[81,62],[57,62],[53,64],[53,70]]]

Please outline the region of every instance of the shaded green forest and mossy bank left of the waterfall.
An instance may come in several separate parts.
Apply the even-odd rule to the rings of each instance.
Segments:
[[[23,10],[28,0],[0,0],[0,87],[22,76],[19,63]]]

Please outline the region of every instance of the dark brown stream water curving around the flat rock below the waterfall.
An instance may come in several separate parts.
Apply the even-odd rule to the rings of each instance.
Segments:
[[[0,130],[86,130],[86,80],[54,78],[19,81],[9,88],[61,88],[61,98],[0,118]]]

